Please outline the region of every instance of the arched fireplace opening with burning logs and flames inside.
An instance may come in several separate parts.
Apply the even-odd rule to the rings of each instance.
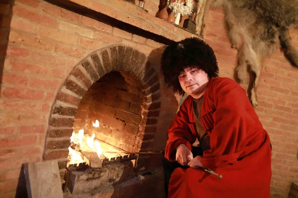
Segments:
[[[141,82],[126,71],[105,74],[87,90],[74,117],[64,190],[81,194],[133,178],[143,98]]]

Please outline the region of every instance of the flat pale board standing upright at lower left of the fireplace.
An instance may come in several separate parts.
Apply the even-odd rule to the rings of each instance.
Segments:
[[[24,163],[28,198],[63,198],[57,160]]]

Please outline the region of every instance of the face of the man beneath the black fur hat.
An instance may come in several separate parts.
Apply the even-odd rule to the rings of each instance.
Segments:
[[[196,67],[187,67],[178,75],[178,80],[183,91],[194,99],[200,98],[208,84],[208,75]]]

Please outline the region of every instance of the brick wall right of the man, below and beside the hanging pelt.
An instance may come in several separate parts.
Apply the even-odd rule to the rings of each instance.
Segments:
[[[204,40],[216,52],[220,76],[233,78],[237,51],[230,48],[224,12],[214,9],[206,18]],[[298,48],[298,31],[291,30],[290,36]],[[247,89],[247,85],[241,86]],[[277,49],[265,60],[257,87],[255,110],[272,143],[271,197],[287,198],[291,183],[298,181],[298,69]]]

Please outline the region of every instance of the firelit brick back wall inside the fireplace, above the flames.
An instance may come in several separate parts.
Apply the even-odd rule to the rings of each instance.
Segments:
[[[141,82],[129,72],[115,71],[104,75],[80,101],[74,117],[74,132],[84,129],[85,134],[91,136],[94,133],[95,138],[116,148],[138,152],[144,135],[139,125],[148,113],[144,109],[145,115],[141,116],[140,88],[143,89]],[[92,126],[95,120],[99,121],[98,128]]]

